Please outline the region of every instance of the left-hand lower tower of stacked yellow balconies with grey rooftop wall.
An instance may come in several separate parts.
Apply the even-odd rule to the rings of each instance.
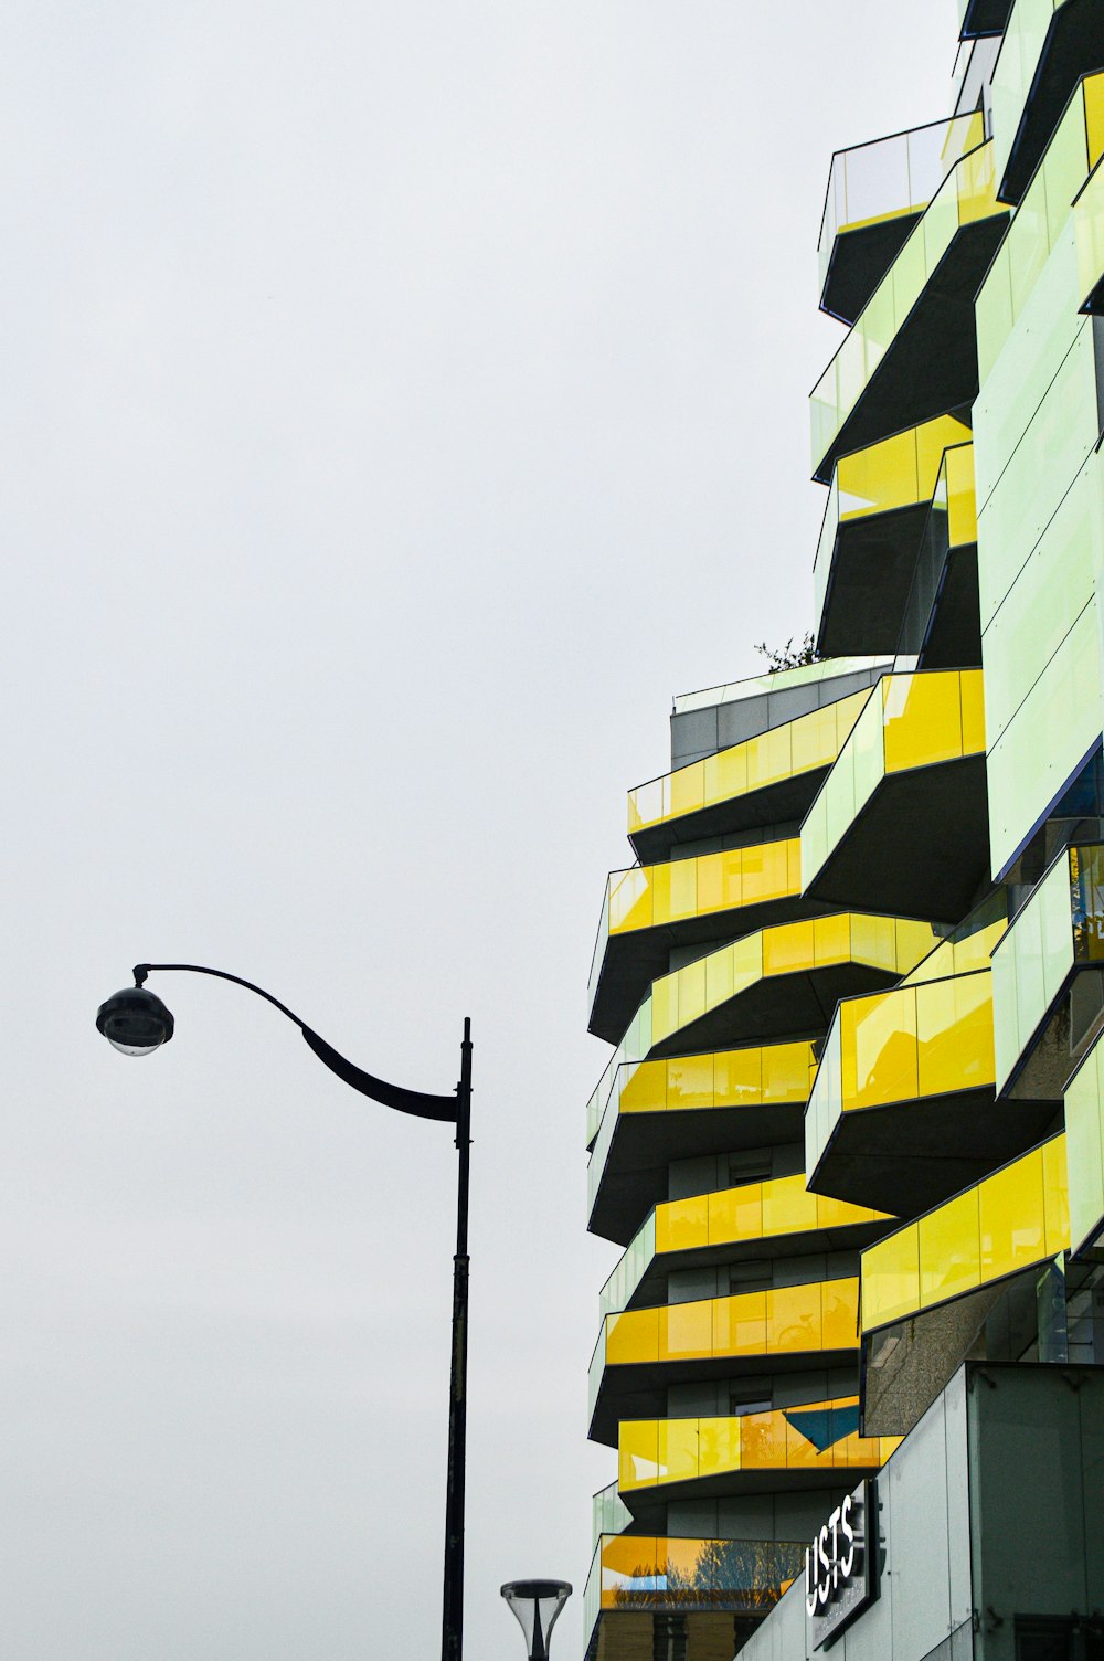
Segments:
[[[825,905],[802,877],[802,822],[883,668],[682,699],[684,764],[629,797],[646,862],[608,884],[591,975],[591,1030],[616,1045],[588,1108],[591,1229],[624,1247],[589,1375],[591,1437],[618,1453],[594,1656],[657,1641],[671,1611],[735,1648],[825,1500],[892,1447],[858,1432],[857,1271],[896,1218],[810,1193],[802,1139],[840,997],[940,945],[923,919]]]

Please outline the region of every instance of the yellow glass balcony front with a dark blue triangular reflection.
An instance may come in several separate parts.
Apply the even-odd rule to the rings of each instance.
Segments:
[[[657,1488],[714,1482],[739,1473],[800,1473],[802,1487],[850,1470],[878,1470],[900,1437],[840,1437],[820,1450],[800,1423],[858,1407],[858,1397],[810,1402],[800,1409],[742,1414],[735,1418],[623,1418],[618,1427],[618,1493],[631,1497]],[[730,1483],[724,1485],[730,1488]]]

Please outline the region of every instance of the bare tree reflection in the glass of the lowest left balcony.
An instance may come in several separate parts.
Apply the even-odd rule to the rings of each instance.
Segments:
[[[633,1608],[770,1610],[805,1566],[805,1548],[790,1540],[702,1540],[691,1568],[639,1565],[614,1601]]]

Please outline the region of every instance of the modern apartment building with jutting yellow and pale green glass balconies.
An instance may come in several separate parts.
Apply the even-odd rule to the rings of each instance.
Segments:
[[[1104,0],[960,10],[832,159],[820,656],[606,887],[591,1661],[1104,1656]]]

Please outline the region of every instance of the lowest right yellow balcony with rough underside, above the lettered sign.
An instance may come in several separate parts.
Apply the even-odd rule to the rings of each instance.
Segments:
[[[1059,1134],[865,1251],[863,1430],[906,1430],[1001,1291],[1018,1276],[1036,1279],[1067,1247]]]

